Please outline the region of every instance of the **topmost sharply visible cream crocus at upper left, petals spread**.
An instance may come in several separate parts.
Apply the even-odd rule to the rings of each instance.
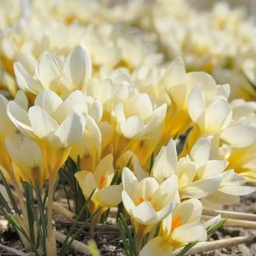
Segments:
[[[34,95],[53,90],[65,99],[74,90],[86,89],[92,63],[87,48],[79,45],[65,60],[51,53],[41,55],[34,76],[20,62],[15,62],[14,71],[20,89]]]

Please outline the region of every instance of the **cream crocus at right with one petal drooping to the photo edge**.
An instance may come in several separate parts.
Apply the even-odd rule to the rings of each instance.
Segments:
[[[206,93],[200,86],[196,86],[189,94],[188,110],[194,126],[186,138],[181,156],[189,152],[201,136],[213,136],[212,154],[215,155],[212,157],[215,159],[220,140],[235,148],[249,146],[256,140],[256,128],[243,117],[232,119],[232,108],[221,95],[207,100]]]

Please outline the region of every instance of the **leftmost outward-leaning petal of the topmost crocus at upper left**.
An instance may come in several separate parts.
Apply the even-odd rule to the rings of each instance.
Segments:
[[[36,95],[44,90],[44,87],[38,81],[33,79],[33,77],[23,68],[19,62],[15,62],[13,67],[18,87],[21,90],[29,91]]]

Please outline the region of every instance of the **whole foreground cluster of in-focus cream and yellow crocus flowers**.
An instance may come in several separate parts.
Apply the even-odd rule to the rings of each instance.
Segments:
[[[139,249],[150,233],[142,255],[172,252],[191,238],[206,241],[202,203],[236,204],[256,191],[243,186],[246,179],[255,182],[255,102],[229,102],[228,84],[186,72],[181,57],[134,70],[139,64],[131,68],[127,54],[108,70],[96,67],[88,49],[80,44],[63,55],[44,52],[35,71],[15,61],[20,90],[11,101],[0,96],[0,166],[19,193],[24,219],[20,177],[33,187],[36,179],[40,189],[49,180],[46,244],[55,255],[53,190],[70,157],[81,167],[75,177],[84,197],[94,191],[90,215],[100,208],[92,229],[110,207],[123,205]]]

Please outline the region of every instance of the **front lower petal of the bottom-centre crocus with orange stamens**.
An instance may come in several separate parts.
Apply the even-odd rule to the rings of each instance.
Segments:
[[[144,201],[131,209],[131,217],[143,225],[156,224],[158,222],[157,213],[148,201]]]

